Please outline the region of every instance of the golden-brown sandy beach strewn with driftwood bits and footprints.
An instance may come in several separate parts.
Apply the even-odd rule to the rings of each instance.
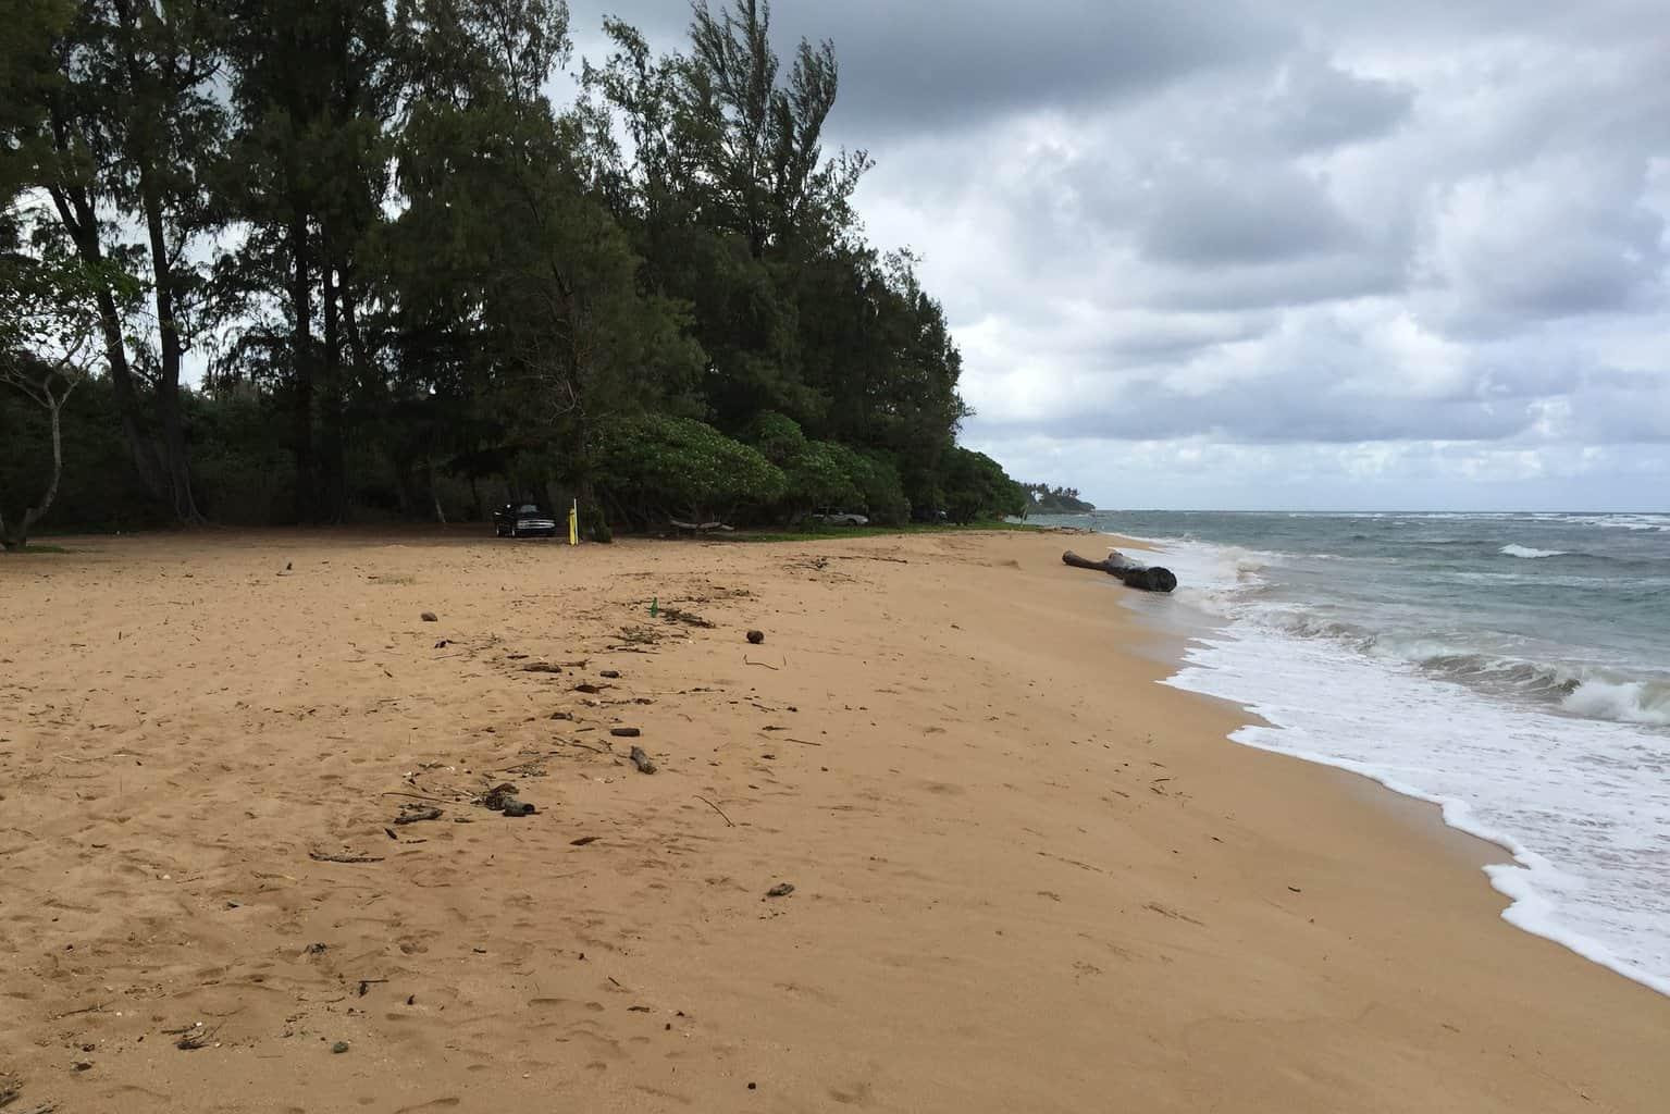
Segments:
[[[87,546],[0,558],[5,1114],[1670,1109],[1670,1000],[1062,538]]]

